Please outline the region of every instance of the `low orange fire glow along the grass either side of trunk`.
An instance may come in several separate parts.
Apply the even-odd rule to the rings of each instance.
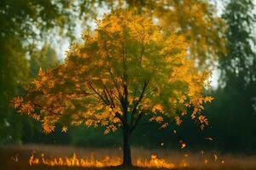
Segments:
[[[201,155],[201,154],[200,154]],[[22,161],[18,159],[19,154],[11,156],[12,161],[18,162]],[[212,158],[211,158],[212,157]],[[200,159],[198,159],[200,158]],[[94,156],[91,152],[90,156],[80,158],[76,153],[72,156],[45,156],[44,153],[39,154],[32,151],[32,155],[28,158],[28,163],[30,166],[34,165],[46,165],[49,167],[55,166],[67,166],[67,167],[114,167],[122,164],[121,156]],[[149,167],[149,168],[180,168],[180,167],[197,167],[197,166],[220,166],[221,164],[226,164],[226,161],[222,157],[218,157],[217,154],[212,154],[212,156],[195,156],[190,154],[184,154],[178,159],[170,157],[160,158],[155,153],[150,156],[150,158],[137,157],[132,160],[133,166],[136,167]]]

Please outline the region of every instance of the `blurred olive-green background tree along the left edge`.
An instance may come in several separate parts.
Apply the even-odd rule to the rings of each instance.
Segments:
[[[37,37],[55,26],[54,24],[59,25],[60,12],[56,4],[49,1],[3,0],[0,2],[1,143],[20,141],[22,122],[9,108],[8,100],[22,92],[20,86],[30,77],[30,65],[27,59],[32,48],[28,44],[36,42]],[[36,27],[42,30],[39,35]]]

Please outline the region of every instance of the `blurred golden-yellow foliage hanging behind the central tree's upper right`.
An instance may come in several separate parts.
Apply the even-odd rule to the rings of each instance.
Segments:
[[[158,20],[164,30],[176,27],[189,39],[191,57],[199,67],[214,65],[225,53],[224,21],[213,4],[204,0],[120,1]]]

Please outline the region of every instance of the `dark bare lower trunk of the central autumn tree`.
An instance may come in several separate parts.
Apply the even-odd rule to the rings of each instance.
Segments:
[[[124,127],[124,147],[123,147],[123,164],[124,167],[131,167],[131,146],[130,132],[128,127]]]

